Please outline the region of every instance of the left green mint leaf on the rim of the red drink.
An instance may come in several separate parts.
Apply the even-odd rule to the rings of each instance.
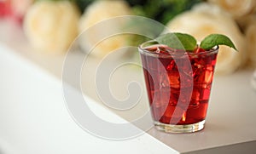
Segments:
[[[166,33],[155,38],[156,42],[165,44],[170,48],[185,49],[187,51],[193,51],[196,48],[195,37],[189,34],[183,34],[178,32]]]

